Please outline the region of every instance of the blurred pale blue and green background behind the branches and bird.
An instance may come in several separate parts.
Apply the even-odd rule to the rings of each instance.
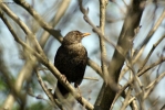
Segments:
[[[89,25],[84,19],[83,14],[80,11],[78,0],[25,0],[29,2],[34,10],[48,22],[50,25],[55,24],[54,29],[60,30],[61,34],[64,36],[68,32],[73,30],[79,30],[81,32],[91,33],[90,36],[84,37],[82,43],[87,50],[89,57],[101,65],[101,52],[100,52],[100,41],[96,33],[92,31],[91,25]],[[35,34],[37,38],[40,41],[43,35],[44,30],[39,26],[35,20],[20,6],[14,3],[12,0],[3,0],[3,2],[10,8],[10,10],[16,13],[27,25],[28,28]],[[116,44],[118,35],[122,30],[122,25],[124,19],[126,16],[127,7],[131,0],[109,0],[109,4],[106,7],[106,21],[105,21],[105,36],[107,40],[112,41]],[[89,8],[89,18],[90,20],[97,26],[100,24],[100,3],[99,0],[83,0],[84,8]],[[146,7],[143,12],[143,16],[141,19],[140,32],[137,33],[134,42],[133,50],[138,50],[141,43],[147,36],[148,32],[153,29],[154,24],[161,16],[162,12],[165,8],[164,0],[147,0]],[[62,9],[63,14],[58,16],[58,12]],[[18,24],[12,21],[7,14],[6,18],[9,20],[10,24],[14,29],[18,36],[25,41],[25,34],[18,26]],[[54,18],[60,18],[55,21]],[[145,59],[148,52],[151,51],[154,43],[157,42],[159,37],[165,34],[165,20],[161,23],[149,42],[147,43],[141,58],[135,64],[135,67],[140,67],[142,61]],[[54,61],[54,56],[56,50],[61,44],[53,36],[49,36],[43,50],[51,63]],[[112,55],[114,53],[114,47],[106,43],[107,51],[107,63],[111,61]],[[8,28],[0,20],[0,69],[4,69],[7,72],[7,76],[0,70],[0,107],[7,101],[9,94],[11,91],[10,86],[8,86],[8,79],[11,82],[16,82],[20,72],[25,64],[25,59],[23,58],[23,51],[20,44],[18,44]],[[155,48],[152,54],[147,65],[156,62],[159,57],[165,55],[165,41],[163,40],[158,46]],[[157,75],[165,72],[165,64],[162,63],[159,66],[151,69],[147,74],[145,74],[142,78],[142,82],[147,85],[152,80],[154,80]],[[3,67],[3,68],[2,68]],[[43,70],[40,72],[43,81],[47,84],[49,88],[55,89],[56,78],[49,72]],[[87,99],[92,105],[94,105],[97,95],[100,92],[101,86],[103,84],[103,79],[95,73],[91,67],[86,67],[85,76],[96,78],[97,80],[83,79],[80,89],[82,96]],[[127,82],[128,75],[125,74],[124,78],[120,81],[121,85]],[[153,90],[149,98],[146,100],[146,108],[149,110],[157,110],[164,105],[165,94],[164,94],[164,85],[165,79],[162,79],[156,88]],[[21,91],[27,92],[27,90],[31,90],[32,95],[27,96],[27,105],[25,110],[54,110],[52,106],[49,105],[47,100],[48,97],[42,90],[40,84],[38,82],[37,75],[32,73],[31,77],[23,81]],[[28,92],[28,94],[29,94]],[[37,96],[43,96],[42,99],[37,99]],[[45,100],[44,100],[45,99]],[[117,102],[114,106],[114,110],[118,110],[118,107],[122,106],[122,97],[118,98]],[[153,106],[153,102],[157,102]],[[72,101],[70,106],[71,110],[83,110],[83,107],[76,102]],[[12,110],[19,110],[19,100],[14,102]],[[127,107],[127,110],[131,108]],[[55,109],[58,110],[58,108]]]

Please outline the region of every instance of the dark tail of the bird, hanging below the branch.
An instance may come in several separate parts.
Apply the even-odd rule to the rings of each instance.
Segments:
[[[55,92],[54,92],[54,98],[58,98],[59,91],[60,91],[60,94],[61,94],[64,98],[68,98],[69,91],[61,85],[60,81],[58,81],[56,90],[55,90]]]

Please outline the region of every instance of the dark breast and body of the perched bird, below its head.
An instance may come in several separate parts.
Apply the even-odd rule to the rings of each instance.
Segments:
[[[81,44],[62,45],[56,53],[54,65],[70,82],[81,84],[87,63],[87,52]]]

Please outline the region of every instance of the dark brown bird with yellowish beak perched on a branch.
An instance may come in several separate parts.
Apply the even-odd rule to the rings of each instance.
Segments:
[[[66,77],[69,82],[74,82],[75,88],[82,82],[87,64],[87,52],[81,43],[82,38],[87,35],[90,34],[79,31],[69,32],[63,38],[54,58],[54,66]],[[58,81],[56,87],[62,96],[69,94],[60,81]]]

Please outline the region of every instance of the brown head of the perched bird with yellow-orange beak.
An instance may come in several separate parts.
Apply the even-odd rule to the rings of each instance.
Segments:
[[[90,35],[90,33],[81,33],[80,31],[71,31],[65,35],[62,44],[70,45],[70,44],[81,43],[81,40],[87,35]]]

